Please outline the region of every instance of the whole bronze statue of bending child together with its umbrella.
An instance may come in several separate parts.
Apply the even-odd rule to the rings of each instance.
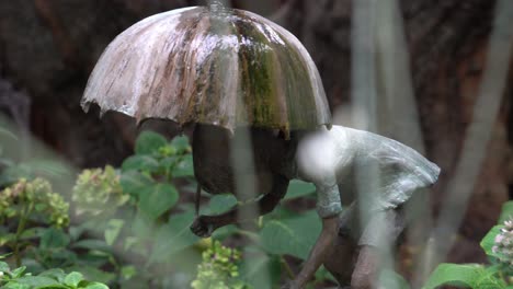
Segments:
[[[248,128],[254,170],[238,173],[254,174],[255,189],[263,195],[258,204],[262,213],[283,198],[289,180],[315,183],[323,229],[289,285],[293,288],[300,288],[327,261],[337,240],[342,204],[345,198],[352,200],[349,193],[354,193],[353,186],[344,180],[351,178],[353,169],[377,165],[390,176],[385,183],[401,184],[378,187],[384,194],[369,198],[375,203],[365,203],[379,212],[395,210],[413,190],[434,183],[437,175],[435,165],[400,143],[342,127],[326,130],[323,127],[331,127],[331,115],[322,82],[300,42],[270,20],[219,3],[156,14],[119,34],[91,73],[82,97],[84,109],[90,103],[96,103],[102,112],[117,111],[138,122],[161,118],[180,126],[196,124],[195,175],[200,185],[214,194],[244,195],[235,187],[229,160],[230,138],[238,129]],[[324,140],[316,140],[309,131]],[[317,146],[328,147],[319,150]],[[327,158],[326,153],[331,154]],[[309,170],[312,164],[318,166]],[[350,216],[347,211],[343,216]],[[220,216],[200,216],[192,229],[207,236],[236,221],[233,209]],[[365,229],[362,232],[366,235]],[[371,255],[369,246],[362,244],[361,256]],[[357,264],[372,264],[371,257],[361,259]],[[366,266],[357,266],[353,280],[366,276],[360,269]]]

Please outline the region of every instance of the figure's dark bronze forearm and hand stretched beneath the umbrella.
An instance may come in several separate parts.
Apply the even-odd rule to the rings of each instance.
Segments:
[[[287,193],[288,182],[284,176],[276,175],[273,178],[273,188],[271,193],[264,195],[256,204],[259,208],[260,215],[265,215],[271,212],[280,200],[285,196]],[[237,221],[244,221],[238,219],[239,210],[244,210],[255,206],[255,204],[246,204],[242,206],[236,206],[235,208],[230,209],[229,211],[217,215],[217,216],[200,216],[194,220],[194,223],[191,226],[191,230],[194,234],[207,238],[214,232],[217,228],[236,223]]]

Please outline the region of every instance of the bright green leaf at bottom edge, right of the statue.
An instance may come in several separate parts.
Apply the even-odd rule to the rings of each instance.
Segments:
[[[458,265],[444,263],[436,267],[422,288],[434,289],[444,285],[463,288],[478,288],[476,286],[480,279],[480,276],[483,274],[485,268],[480,265]]]

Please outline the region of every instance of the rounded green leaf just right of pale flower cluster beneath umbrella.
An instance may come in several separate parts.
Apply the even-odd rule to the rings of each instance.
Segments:
[[[160,183],[146,187],[139,195],[139,209],[155,220],[171,209],[178,201],[179,194],[171,184]]]

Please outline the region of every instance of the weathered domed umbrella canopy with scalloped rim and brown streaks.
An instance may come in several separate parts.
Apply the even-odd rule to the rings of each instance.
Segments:
[[[314,129],[331,115],[317,68],[288,31],[258,14],[191,7],[147,18],[98,61],[82,107],[179,124]]]

